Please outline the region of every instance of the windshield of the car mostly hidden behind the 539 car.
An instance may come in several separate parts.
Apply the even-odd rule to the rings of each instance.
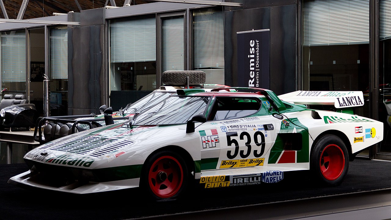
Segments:
[[[167,99],[170,95],[174,94],[173,92],[151,92],[142,99],[136,101],[135,103],[128,104],[123,110],[124,114],[132,113],[141,113],[142,111],[147,110],[149,107],[160,103],[164,99]]]

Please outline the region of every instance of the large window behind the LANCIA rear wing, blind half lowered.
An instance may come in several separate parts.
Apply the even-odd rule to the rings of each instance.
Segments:
[[[353,112],[369,117],[369,0],[304,1],[302,79],[303,90],[362,91]]]

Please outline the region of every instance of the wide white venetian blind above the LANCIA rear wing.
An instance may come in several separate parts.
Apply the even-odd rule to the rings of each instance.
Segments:
[[[303,7],[304,46],[369,43],[369,0],[312,0]]]

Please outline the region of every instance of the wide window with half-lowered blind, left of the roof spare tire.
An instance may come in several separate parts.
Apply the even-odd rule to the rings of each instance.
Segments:
[[[110,90],[156,89],[156,18],[110,22]]]

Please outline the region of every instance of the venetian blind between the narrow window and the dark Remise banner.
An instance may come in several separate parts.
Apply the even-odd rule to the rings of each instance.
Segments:
[[[205,83],[224,84],[224,13],[201,9],[193,16],[194,70],[205,72]]]

